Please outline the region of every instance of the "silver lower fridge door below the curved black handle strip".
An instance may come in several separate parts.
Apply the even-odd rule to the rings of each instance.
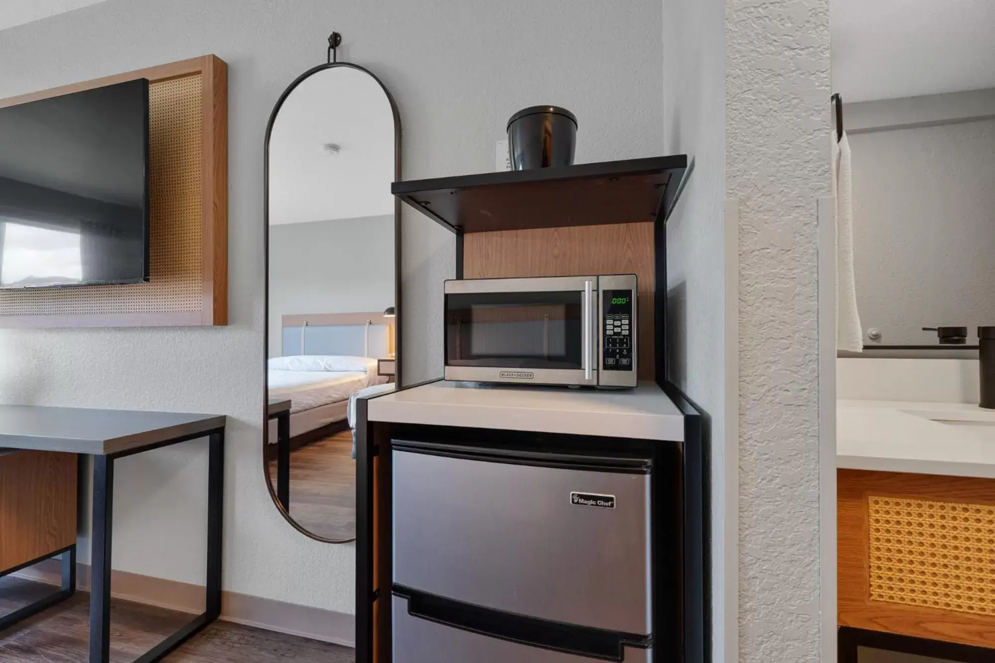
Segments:
[[[501,640],[408,614],[408,601],[393,598],[394,663],[595,663],[578,654]],[[625,647],[625,663],[653,663],[653,649]]]

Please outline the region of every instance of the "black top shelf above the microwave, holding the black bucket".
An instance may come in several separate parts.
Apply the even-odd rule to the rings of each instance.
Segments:
[[[457,234],[666,221],[687,170],[678,154],[394,182],[391,192]]]

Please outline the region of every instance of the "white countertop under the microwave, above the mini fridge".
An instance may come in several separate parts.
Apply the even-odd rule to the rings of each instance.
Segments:
[[[438,381],[371,398],[371,421],[684,441],[684,415],[655,382],[635,389]]]

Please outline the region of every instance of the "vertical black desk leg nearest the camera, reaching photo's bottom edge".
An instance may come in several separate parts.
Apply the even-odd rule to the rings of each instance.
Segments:
[[[114,461],[94,456],[94,530],[90,582],[90,663],[110,661],[110,541]]]

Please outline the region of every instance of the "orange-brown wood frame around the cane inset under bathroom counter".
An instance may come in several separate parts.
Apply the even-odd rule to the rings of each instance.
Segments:
[[[839,470],[838,621],[841,626],[995,648],[995,617],[871,598],[869,496],[995,506],[995,480]]]

